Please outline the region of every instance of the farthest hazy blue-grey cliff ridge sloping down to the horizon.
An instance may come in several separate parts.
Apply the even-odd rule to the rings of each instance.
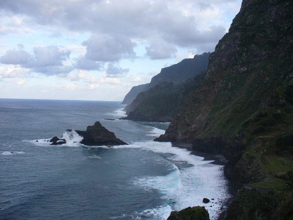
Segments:
[[[193,58],[184,59],[177,64],[162,68],[161,72],[154,76],[150,83],[132,87],[122,102],[122,104],[128,104],[124,109],[126,114],[129,114],[130,111],[133,111],[137,107],[137,101],[132,105],[130,103],[140,92],[145,92],[164,81],[179,84],[205,71],[209,62],[209,55],[210,53],[195,55]]]

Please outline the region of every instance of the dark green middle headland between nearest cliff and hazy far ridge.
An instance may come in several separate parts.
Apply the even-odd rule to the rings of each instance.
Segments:
[[[132,101],[127,117],[132,121],[170,122],[183,108],[190,93],[205,78],[206,72],[181,84],[160,82],[146,92],[141,92]]]

